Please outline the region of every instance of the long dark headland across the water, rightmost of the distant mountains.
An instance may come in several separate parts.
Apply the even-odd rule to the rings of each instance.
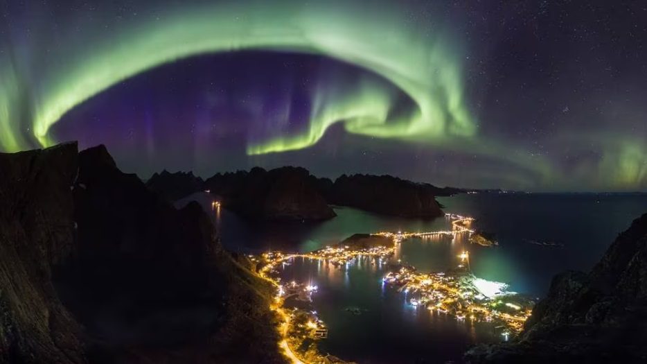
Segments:
[[[389,216],[443,216],[431,184],[418,184],[389,175],[342,175],[330,191],[330,202]]]

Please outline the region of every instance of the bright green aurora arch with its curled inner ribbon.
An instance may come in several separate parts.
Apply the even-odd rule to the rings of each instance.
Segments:
[[[170,11],[154,20],[124,26],[110,36],[88,40],[91,46],[50,55],[54,60],[39,78],[42,85],[28,100],[33,136],[41,146],[55,141],[48,132],[66,112],[103,90],[161,64],[203,53],[268,49],[326,55],[354,64],[388,80],[407,94],[416,110],[391,117],[393,93],[375,83],[362,83],[344,99],[325,91],[314,94],[310,128],[300,135],[278,137],[248,146],[248,154],[296,150],[312,146],[333,123],[348,132],[382,138],[470,137],[475,125],[463,103],[460,62],[438,38],[429,41],[396,11],[357,19],[360,10],[331,6],[218,5]],[[366,13],[366,10],[362,10]],[[64,54],[59,54],[64,53]],[[84,54],[85,53],[85,54]],[[1,74],[15,69],[2,62]],[[1,89],[0,145],[3,150],[28,148],[11,121],[24,119],[18,80]]]

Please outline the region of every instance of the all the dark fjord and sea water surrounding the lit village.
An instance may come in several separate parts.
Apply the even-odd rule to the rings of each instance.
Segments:
[[[192,197],[209,206],[207,196]],[[553,275],[589,270],[615,236],[647,211],[647,195],[478,193],[438,198],[446,212],[477,218],[472,227],[493,233],[499,246],[484,248],[441,236],[400,244],[394,260],[421,272],[453,268],[470,252],[477,277],[503,281],[511,290],[544,295]],[[450,229],[445,218],[406,220],[339,207],[337,217],[319,224],[249,225],[227,210],[213,211],[222,243],[230,250],[307,252],[355,233],[428,232]],[[443,363],[457,361],[473,343],[502,340],[488,324],[458,322],[416,309],[404,293],[384,287],[386,264],[360,259],[347,268],[295,259],[280,274],[284,281],[319,286],[312,305],[329,333],[319,346],[360,363]],[[349,310],[350,309],[350,310]]]

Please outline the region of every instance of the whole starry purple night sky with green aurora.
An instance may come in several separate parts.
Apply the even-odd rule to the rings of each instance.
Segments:
[[[640,1],[0,0],[0,151],[647,191]]]

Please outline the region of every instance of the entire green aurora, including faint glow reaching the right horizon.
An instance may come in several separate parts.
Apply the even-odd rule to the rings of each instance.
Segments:
[[[523,171],[520,175],[531,175],[516,183],[519,188],[578,189],[580,181],[591,177],[598,178],[595,189],[647,188],[647,150],[641,140],[619,136],[621,144],[597,143],[599,162],[561,171],[546,157],[483,135],[477,138],[478,123],[463,95],[459,42],[438,26],[410,21],[393,4],[258,1],[147,14],[118,24],[86,24],[85,33],[50,35],[41,29],[18,49],[10,38],[0,37],[0,150],[55,144],[50,129],[64,114],[161,64],[206,53],[261,49],[335,58],[364,69],[367,76],[350,87],[318,85],[311,95],[307,128],[249,141],[248,155],[307,148],[330,125],[343,123],[346,132],[357,135],[513,165]],[[412,106],[396,112],[402,94]],[[578,137],[567,142],[574,148],[591,146]]]

